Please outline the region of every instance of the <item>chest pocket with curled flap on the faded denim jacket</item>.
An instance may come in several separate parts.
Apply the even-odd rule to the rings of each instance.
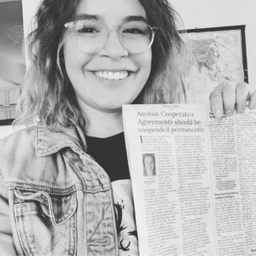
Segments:
[[[14,190],[15,224],[27,255],[73,255],[76,243],[76,193],[50,195]]]

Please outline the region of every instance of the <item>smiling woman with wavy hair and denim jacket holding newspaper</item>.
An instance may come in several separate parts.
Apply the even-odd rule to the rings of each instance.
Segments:
[[[185,101],[174,17],[166,0],[42,2],[27,127],[1,142],[1,254],[138,254],[121,106]],[[237,91],[212,94],[217,116],[244,109]]]

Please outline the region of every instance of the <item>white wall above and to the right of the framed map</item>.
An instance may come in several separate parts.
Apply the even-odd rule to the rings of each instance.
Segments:
[[[169,0],[186,29],[246,25],[249,83],[256,85],[256,0]]]

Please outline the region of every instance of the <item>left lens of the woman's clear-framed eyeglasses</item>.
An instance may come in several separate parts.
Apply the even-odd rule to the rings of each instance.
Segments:
[[[108,38],[108,27],[96,20],[78,20],[73,23],[73,43],[85,53],[102,49]]]

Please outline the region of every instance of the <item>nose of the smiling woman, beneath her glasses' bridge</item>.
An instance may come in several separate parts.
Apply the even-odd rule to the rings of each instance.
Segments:
[[[99,54],[113,59],[119,59],[128,56],[129,52],[121,44],[118,32],[109,31],[106,44],[99,51]]]

